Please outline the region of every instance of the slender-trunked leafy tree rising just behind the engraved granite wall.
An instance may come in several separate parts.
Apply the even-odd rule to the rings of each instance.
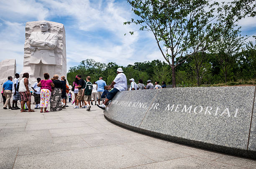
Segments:
[[[162,56],[172,67],[172,85],[176,87],[175,69],[185,62],[192,54],[198,52],[207,37],[223,25],[233,25],[234,22],[249,15],[255,16],[255,1],[234,0],[222,6],[211,0],[127,0],[132,11],[139,19],[131,19],[124,25],[134,23],[139,30],[151,31],[156,39]],[[252,7],[250,6],[252,5]],[[252,12],[253,11],[253,12]],[[217,13],[217,15],[213,15]],[[219,18],[218,20],[216,18]],[[218,27],[200,39],[197,47],[193,43],[191,32],[209,29],[212,22],[218,22]],[[130,32],[133,35],[133,31]],[[190,48],[191,46],[194,48]],[[191,51],[195,49],[195,51]],[[179,60],[177,60],[179,57]]]

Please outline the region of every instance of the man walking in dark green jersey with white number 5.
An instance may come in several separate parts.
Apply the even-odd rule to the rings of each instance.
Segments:
[[[86,77],[86,83],[84,83],[84,87],[83,87],[83,94],[82,96],[84,96],[84,102],[86,104],[86,107],[88,107],[88,109],[86,109],[87,111],[91,110],[91,106],[90,106],[90,101],[92,100],[92,83],[91,81],[91,77],[87,76]]]

